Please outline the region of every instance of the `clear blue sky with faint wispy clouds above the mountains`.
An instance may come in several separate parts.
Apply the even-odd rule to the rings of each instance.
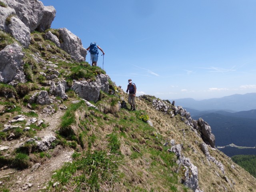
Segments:
[[[97,42],[111,80],[126,90],[131,78],[137,96],[202,100],[256,92],[255,0],[42,2],[57,11],[51,28],[67,28],[85,48]]]

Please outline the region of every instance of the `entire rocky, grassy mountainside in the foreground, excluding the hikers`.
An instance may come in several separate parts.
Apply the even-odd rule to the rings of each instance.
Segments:
[[[255,191],[204,120],[148,95],[126,108],[80,39],[49,29],[53,7],[0,3],[0,190]]]

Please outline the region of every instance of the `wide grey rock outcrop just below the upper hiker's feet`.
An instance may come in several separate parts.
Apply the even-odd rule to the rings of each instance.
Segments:
[[[85,100],[97,102],[100,96],[100,90],[108,93],[108,78],[107,75],[100,74],[96,76],[95,82],[74,81],[72,90]]]

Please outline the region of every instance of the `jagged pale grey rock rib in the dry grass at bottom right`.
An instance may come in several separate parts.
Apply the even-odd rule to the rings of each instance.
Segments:
[[[196,191],[198,188],[198,170],[197,167],[194,166],[190,162],[189,158],[184,157],[182,153],[182,146],[180,144],[177,144],[175,146],[172,146],[170,149],[168,149],[169,152],[174,152],[178,158],[176,163],[178,164],[178,169],[176,172],[179,172],[182,167],[184,170],[184,176],[182,177],[182,183],[191,188],[193,191]]]

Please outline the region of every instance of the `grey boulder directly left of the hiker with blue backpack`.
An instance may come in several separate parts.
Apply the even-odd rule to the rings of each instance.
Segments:
[[[78,62],[85,61],[87,51],[82,46],[80,38],[66,28],[60,28],[58,32],[60,34],[60,39],[62,40],[60,47],[69,53],[72,59],[77,60]]]

